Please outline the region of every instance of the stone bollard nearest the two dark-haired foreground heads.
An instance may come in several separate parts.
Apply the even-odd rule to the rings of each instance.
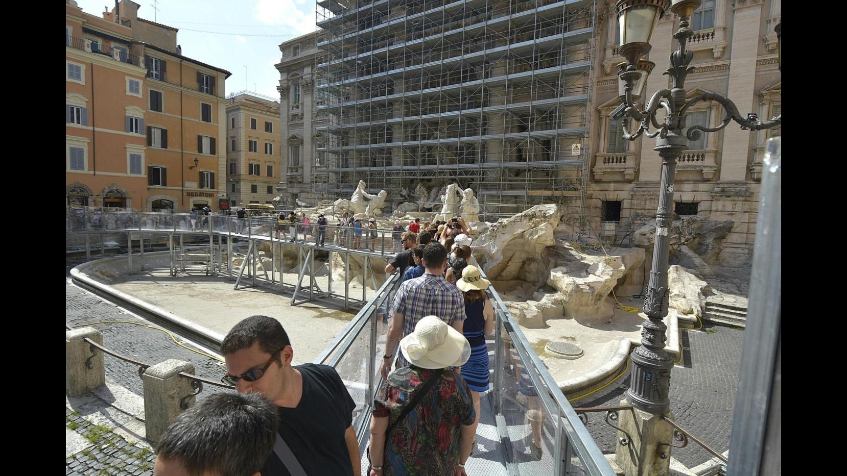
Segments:
[[[180,372],[194,374],[194,365],[170,358],[160,364],[147,368],[141,379],[144,381],[144,424],[147,440],[158,441],[168,429],[168,425],[182,413],[180,406],[185,402],[193,404],[195,397],[191,380],[180,377]]]

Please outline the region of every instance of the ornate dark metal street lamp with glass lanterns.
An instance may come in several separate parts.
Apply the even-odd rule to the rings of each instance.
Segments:
[[[656,244],[653,249],[652,271],[650,284],[644,300],[644,313],[650,318],[641,330],[641,346],[631,354],[632,385],[627,391],[627,400],[639,410],[649,413],[667,413],[670,410],[670,400],[667,397],[670,386],[673,358],[664,350],[665,331],[667,326],[662,322],[662,304],[667,293],[667,254],[670,238],[670,205],[673,200],[673,179],[676,172],[677,158],[688,150],[689,140],[698,140],[700,131],[716,132],[725,128],[730,120],[739,123],[742,129],[760,130],[779,127],[782,115],[769,121],[758,121],[750,114],[743,118],[733,101],[723,96],[706,93],[685,100],[685,76],[693,68],[689,68],[694,52],[685,49],[685,42],[694,35],[689,28],[691,13],[700,6],[700,0],[618,0],[617,20],[621,29],[621,42],[618,52],[627,59],[626,63],[617,65],[617,77],[620,81],[619,93],[622,105],[612,113],[613,118],[626,118],[623,121],[623,138],[636,140],[641,134],[656,137],[656,147],[662,157],[662,185],[659,194],[659,207],[656,211]],[[677,40],[677,50],[671,53],[671,67],[666,74],[673,78],[673,88],[662,89],[650,97],[645,110],[639,111],[634,100],[641,95],[641,89],[652,70],[652,63],[641,59],[650,52],[650,36],[656,28],[656,23],[662,18],[667,9],[679,16],[679,29],[673,35]],[[782,30],[778,26],[777,34]],[[650,63],[647,65],[645,63]],[[780,71],[782,69],[780,68]],[[707,128],[699,124],[685,129],[685,112],[689,107],[700,101],[718,101],[726,110],[726,116],[720,125]],[[662,109],[667,113],[662,123],[656,118],[656,112]],[[630,134],[628,119],[639,122],[638,129]],[[650,132],[650,125],[656,128]]]

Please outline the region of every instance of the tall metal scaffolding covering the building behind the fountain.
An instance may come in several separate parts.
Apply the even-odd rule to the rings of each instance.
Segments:
[[[593,0],[319,0],[316,16],[324,199],[456,182],[481,204],[584,207]]]

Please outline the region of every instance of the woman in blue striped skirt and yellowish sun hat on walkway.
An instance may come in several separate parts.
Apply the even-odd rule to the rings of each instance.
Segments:
[[[473,409],[476,410],[473,434],[476,435],[476,427],[479,424],[479,392],[488,390],[490,364],[485,336],[494,331],[494,308],[485,295],[489,282],[479,275],[476,266],[466,266],[456,285],[465,295],[467,317],[462,333],[471,344],[471,357],[462,365],[462,378],[468,382],[473,397]]]

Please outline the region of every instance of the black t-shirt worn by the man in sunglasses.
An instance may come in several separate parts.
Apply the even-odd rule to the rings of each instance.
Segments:
[[[277,407],[279,432],[309,476],[353,473],[344,434],[352,424],[356,403],[340,376],[329,365],[296,365],[303,377],[303,395],[296,408]],[[262,476],[291,476],[271,453]]]

